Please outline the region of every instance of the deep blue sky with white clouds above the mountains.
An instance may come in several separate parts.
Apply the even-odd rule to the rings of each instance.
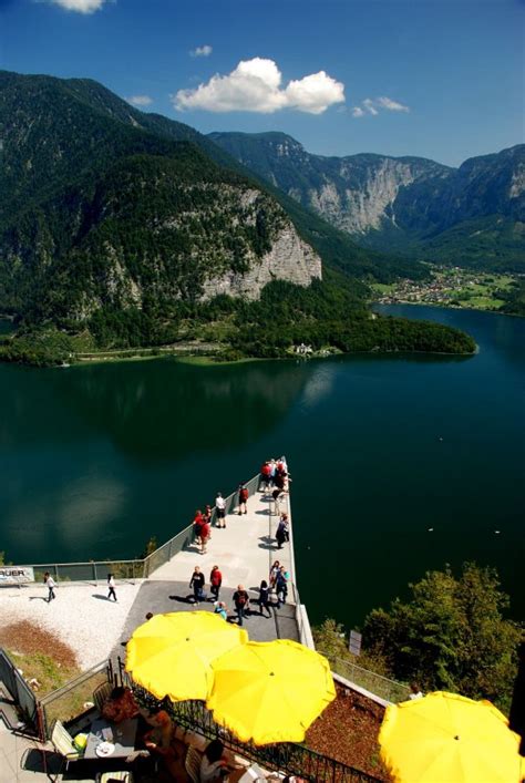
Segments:
[[[524,22],[524,0],[0,0],[0,66],[203,133],[459,165],[523,142]]]

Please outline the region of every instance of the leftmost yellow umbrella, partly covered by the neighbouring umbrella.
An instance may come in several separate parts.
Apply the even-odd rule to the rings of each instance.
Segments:
[[[214,658],[248,640],[245,630],[210,611],[154,615],[126,646],[126,670],[147,691],[172,701],[207,699]]]

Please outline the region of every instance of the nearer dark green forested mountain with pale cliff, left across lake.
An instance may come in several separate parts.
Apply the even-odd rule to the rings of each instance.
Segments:
[[[300,341],[473,348],[366,311],[358,276],[424,267],[356,246],[210,140],[95,82],[0,72],[0,312],[20,323],[3,358],[66,356],[72,333],[90,347],[205,336],[256,356]]]

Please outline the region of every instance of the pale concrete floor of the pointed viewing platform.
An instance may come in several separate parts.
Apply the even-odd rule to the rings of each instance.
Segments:
[[[256,492],[248,498],[247,514],[229,514],[225,529],[212,528],[212,539],[205,555],[193,544],[154,571],[150,580],[189,583],[195,566],[200,566],[207,584],[209,571],[216,565],[223,574],[225,587],[241,584],[253,589],[260,585],[261,579],[268,581],[271,564],[279,560],[289,571],[291,581],[295,581],[290,545],[277,548],[275,532],[279,516],[274,513],[274,506],[270,493]],[[289,513],[288,497],[280,504],[280,511]],[[289,593],[289,601],[294,601],[292,590]]]

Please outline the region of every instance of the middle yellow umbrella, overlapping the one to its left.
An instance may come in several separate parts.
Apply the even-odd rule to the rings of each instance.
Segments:
[[[300,742],[336,698],[326,658],[288,639],[250,641],[217,658],[206,705],[243,742]]]

